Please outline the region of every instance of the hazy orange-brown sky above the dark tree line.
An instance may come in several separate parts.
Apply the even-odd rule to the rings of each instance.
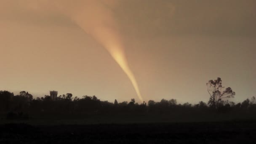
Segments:
[[[144,101],[207,102],[217,77],[243,101],[255,25],[255,0],[0,0],[0,90],[140,103],[117,46]]]

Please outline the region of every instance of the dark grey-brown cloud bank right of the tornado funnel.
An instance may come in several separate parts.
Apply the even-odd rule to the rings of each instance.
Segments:
[[[126,32],[144,36],[256,34],[255,0],[131,0],[119,10]]]

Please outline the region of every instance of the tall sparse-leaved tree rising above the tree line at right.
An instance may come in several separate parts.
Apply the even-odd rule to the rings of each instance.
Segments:
[[[222,86],[222,80],[220,77],[217,80],[209,80],[207,85],[207,91],[210,94],[210,100],[208,104],[213,107],[217,107],[219,102],[225,98],[234,98],[235,92],[232,91],[230,87],[226,88],[224,91],[224,87]]]

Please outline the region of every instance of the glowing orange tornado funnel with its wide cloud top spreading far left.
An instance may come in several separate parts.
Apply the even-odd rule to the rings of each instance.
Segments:
[[[112,11],[112,8],[118,5],[118,0],[25,1],[28,4],[27,7],[33,11],[45,12],[43,9],[45,7],[49,8],[49,11],[56,11],[68,17],[68,19],[74,21],[81,29],[103,45],[131,80],[137,96],[141,102],[143,101],[138,83],[125,58],[124,45]],[[20,5],[25,4],[23,1],[19,2]]]

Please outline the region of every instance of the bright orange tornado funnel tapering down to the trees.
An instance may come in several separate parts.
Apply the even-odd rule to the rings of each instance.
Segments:
[[[131,80],[136,94],[142,102],[138,83],[125,58],[124,45],[119,34],[118,24],[115,22],[112,11],[106,6],[108,1],[88,0],[85,2],[85,7],[73,10],[70,17],[86,33],[107,49]]]

